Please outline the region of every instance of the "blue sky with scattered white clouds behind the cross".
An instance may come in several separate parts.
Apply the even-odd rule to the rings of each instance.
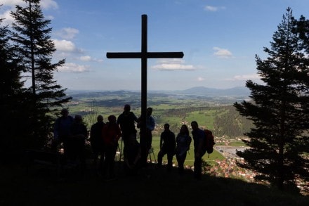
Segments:
[[[21,0],[1,0],[0,18]],[[291,7],[309,18],[308,0],[44,0],[51,38],[65,58],[55,72],[67,89],[140,90],[139,59],[107,59],[107,52],[140,52],[141,15],[147,15],[149,52],[183,51],[179,59],[147,61],[148,90],[194,86],[227,89],[259,82],[255,55],[265,58],[272,34]]]

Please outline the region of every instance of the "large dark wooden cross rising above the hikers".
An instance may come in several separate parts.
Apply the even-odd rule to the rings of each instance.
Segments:
[[[119,52],[106,53],[107,58],[140,58],[142,64],[142,105],[141,105],[141,135],[146,131],[146,110],[147,110],[147,59],[148,58],[183,58],[183,52],[148,52],[147,51],[147,15],[142,15],[142,49],[141,52]]]

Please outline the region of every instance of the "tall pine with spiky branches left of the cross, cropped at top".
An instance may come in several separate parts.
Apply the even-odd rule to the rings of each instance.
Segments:
[[[12,41],[18,46],[22,56],[24,75],[31,74],[32,95],[27,98],[29,124],[33,131],[28,134],[27,147],[40,148],[46,143],[54,120],[52,112],[63,103],[70,101],[62,86],[53,79],[53,72],[61,67],[65,60],[52,63],[55,44],[51,40],[51,20],[45,20],[39,0],[23,0],[27,6],[16,6],[11,12],[15,22],[12,25]]]

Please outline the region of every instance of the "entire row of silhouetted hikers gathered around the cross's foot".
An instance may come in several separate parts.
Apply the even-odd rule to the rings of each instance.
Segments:
[[[86,126],[82,122],[81,115],[74,118],[69,115],[67,109],[61,110],[62,116],[54,124],[54,141],[52,148],[57,148],[59,143],[63,143],[64,156],[67,162],[79,161],[81,168],[86,166],[85,141],[88,138]],[[137,174],[138,171],[147,167],[147,156],[152,148],[152,131],[155,129],[155,119],[152,117],[152,108],[147,108],[146,125],[141,117],[131,111],[129,104],[124,105],[124,111],[117,118],[114,115],[107,117],[108,122],[103,121],[103,116],[98,115],[97,122],[91,125],[90,142],[93,153],[93,169],[96,174],[100,174],[106,179],[114,179],[114,159],[119,148],[119,139],[124,144],[124,172],[126,174]],[[140,129],[140,141],[137,140],[137,128]],[[184,162],[190,143],[194,141],[194,174],[195,179],[202,176],[202,141],[204,141],[204,131],[199,129],[196,121],[191,122],[192,137],[187,125],[183,124],[177,136],[170,130],[169,124],[164,124],[164,131],[160,136],[160,150],[157,155],[157,167],[162,167],[162,159],[167,155],[167,169],[173,167],[173,156],[176,155],[178,162],[178,172],[183,174]]]

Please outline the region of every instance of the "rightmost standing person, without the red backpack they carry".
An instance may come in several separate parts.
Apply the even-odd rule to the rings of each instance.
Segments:
[[[202,157],[206,152],[203,149],[203,144],[206,136],[204,130],[199,129],[199,124],[196,121],[191,122],[191,127],[195,147],[194,176],[199,180],[202,178]]]

